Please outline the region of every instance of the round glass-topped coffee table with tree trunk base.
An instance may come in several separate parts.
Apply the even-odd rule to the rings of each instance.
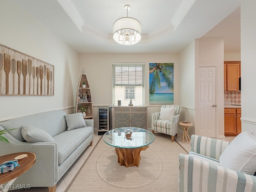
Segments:
[[[126,167],[139,166],[140,151],[146,150],[155,140],[152,132],[136,128],[122,127],[110,130],[103,135],[103,141],[115,147],[118,163]]]

